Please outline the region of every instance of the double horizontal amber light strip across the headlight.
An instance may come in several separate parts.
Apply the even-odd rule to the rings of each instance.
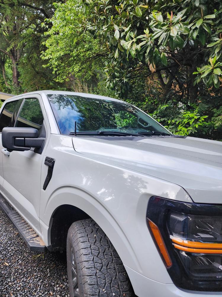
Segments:
[[[198,241],[183,240],[181,238],[171,237],[176,249],[184,252],[201,254],[222,254],[221,243],[204,243]]]

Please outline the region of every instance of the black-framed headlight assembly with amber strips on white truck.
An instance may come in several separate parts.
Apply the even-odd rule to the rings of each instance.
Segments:
[[[222,205],[152,197],[147,223],[175,285],[187,290],[222,291]],[[156,226],[161,244],[152,226]]]

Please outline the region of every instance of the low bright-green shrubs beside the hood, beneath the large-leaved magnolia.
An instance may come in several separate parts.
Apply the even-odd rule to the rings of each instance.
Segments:
[[[127,100],[145,112],[174,134],[201,138],[221,139],[222,108],[221,97],[210,101],[210,95],[197,98],[197,104],[182,104],[172,97],[164,97],[156,88],[150,88],[148,96],[142,101]]]

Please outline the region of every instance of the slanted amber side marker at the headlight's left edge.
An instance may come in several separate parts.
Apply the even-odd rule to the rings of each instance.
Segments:
[[[157,227],[157,225],[155,225],[152,221],[150,221],[148,219],[148,224],[149,224],[149,228],[152,232],[152,235],[156,241],[156,244],[160,250],[161,255],[163,256],[163,259],[165,261],[165,264],[167,267],[170,267],[172,265],[172,262],[170,260],[170,256],[168,255],[167,249],[165,247],[165,244],[163,242],[163,238],[160,234],[160,231]]]

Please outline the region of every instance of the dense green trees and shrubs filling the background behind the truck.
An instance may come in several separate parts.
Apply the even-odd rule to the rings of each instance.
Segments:
[[[220,0],[0,0],[0,18],[0,91],[115,97],[222,139]]]

